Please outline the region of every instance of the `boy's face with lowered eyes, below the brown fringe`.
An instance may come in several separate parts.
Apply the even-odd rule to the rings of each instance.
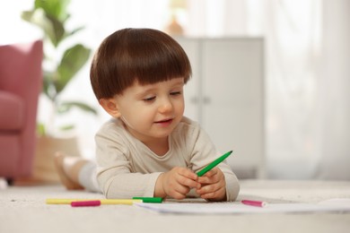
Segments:
[[[114,98],[118,117],[141,142],[165,139],[181,120],[184,78],[133,86]]]

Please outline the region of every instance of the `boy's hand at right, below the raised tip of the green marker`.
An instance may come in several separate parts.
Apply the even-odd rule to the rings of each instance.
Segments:
[[[198,177],[197,181],[201,184],[201,187],[197,188],[200,197],[209,201],[226,200],[226,182],[220,168],[211,169],[203,177]]]

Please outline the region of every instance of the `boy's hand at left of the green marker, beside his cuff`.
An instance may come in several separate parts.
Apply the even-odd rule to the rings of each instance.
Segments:
[[[184,199],[191,188],[200,187],[197,178],[197,174],[188,168],[172,168],[158,177],[154,196],[169,195],[175,199]]]

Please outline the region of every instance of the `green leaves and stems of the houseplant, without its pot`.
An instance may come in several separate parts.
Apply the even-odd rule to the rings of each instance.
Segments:
[[[76,43],[67,47],[66,41],[83,30],[66,29],[66,22],[70,18],[67,12],[70,0],[34,0],[31,11],[22,12],[22,19],[38,26],[43,32],[44,61],[43,61],[43,93],[52,105],[51,121],[47,124],[39,123],[39,134],[54,134],[55,116],[65,114],[72,108],[97,114],[96,110],[80,101],[62,101],[60,95],[74,75],[86,64],[91,49]],[[60,126],[60,130],[72,129],[74,125]]]

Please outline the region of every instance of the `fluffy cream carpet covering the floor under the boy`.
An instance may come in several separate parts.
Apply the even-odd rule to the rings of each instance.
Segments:
[[[74,208],[47,198],[102,198],[63,186],[0,190],[0,232],[349,232],[350,213],[188,215],[160,214],[127,205]],[[240,198],[310,202],[350,198],[350,182],[241,181]]]

